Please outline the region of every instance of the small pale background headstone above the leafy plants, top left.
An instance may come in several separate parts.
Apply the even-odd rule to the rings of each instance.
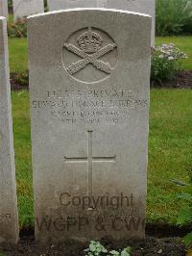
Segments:
[[[43,0],[12,0],[14,20],[36,13],[44,13]]]

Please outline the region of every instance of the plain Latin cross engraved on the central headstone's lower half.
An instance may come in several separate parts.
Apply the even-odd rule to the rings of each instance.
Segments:
[[[93,131],[88,131],[88,141],[87,141],[87,157],[64,157],[65,163],[87,163],[87,182],[88,182],[88,196],[92,196],[93,192],[93,163],[104,162],[104,163],[115,163],[116,155],[112,157],[93,157],[92,150],[92,135]]]

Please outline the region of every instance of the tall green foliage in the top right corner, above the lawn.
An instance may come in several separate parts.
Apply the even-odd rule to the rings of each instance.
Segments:
[[[156,0],[156,36],[191,34],[192,0]]]

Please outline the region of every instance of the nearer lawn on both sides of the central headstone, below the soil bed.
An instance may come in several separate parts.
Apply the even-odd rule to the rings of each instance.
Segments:
[[[184,202],[171,180],[187,182],[192,166],[192,90],[152,90],[148,222],[175,223]],[[33,217],[29,92],[12,92],[17,194],[21,226]]]

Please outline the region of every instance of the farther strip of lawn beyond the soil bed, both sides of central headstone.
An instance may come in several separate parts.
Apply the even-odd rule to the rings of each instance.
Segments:
[[[161,43],[176,43],[188,59],[183,61],[184,69],[192,70],[192,37],[156,38],[156,45]],[[11,72],[24,72],[27,69],[27,39],[9,38]]]

